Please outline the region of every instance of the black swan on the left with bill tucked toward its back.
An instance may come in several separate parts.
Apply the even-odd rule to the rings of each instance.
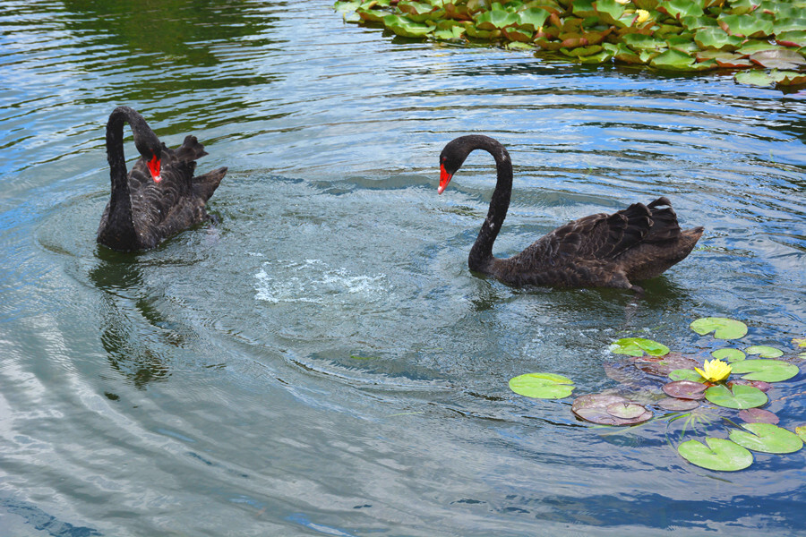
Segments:
[[[126,174],[124,123],[132,127],[141,158]],[[148,250],[166,237],[206,219],[204,205],[227,173],[226,167],[193,177],[197,158],[207,153],[195,136],[169,149],[130,107],[116,107],[107,123],[107,160],[112,196],[98,228],[98,242],[121,251]]]

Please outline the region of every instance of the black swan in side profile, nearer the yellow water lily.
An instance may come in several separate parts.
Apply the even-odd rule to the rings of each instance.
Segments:
[[[681,230],[671,202],[661,197],[649,205],[633,203],[612,215],[600,213],[579,218],[537,239],[518,255],[495,258],[493,243],[507,216],[512,192],[512,163],[507,149],[482,135],[460,136],[450,141],[440,155],[438,192],[442,194],[475,149],[493,155],[498,183],[467,264],[471,270],[504,283],[617,287],[641,293],[643,289],[633,281],[656,277],[685,259],[702,235],[702,227]]]

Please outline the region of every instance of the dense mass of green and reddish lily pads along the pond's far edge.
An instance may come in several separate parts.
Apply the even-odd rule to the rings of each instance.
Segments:
[[[741,69],[744,84],[806,85],[806,6],[791,0],[339,0],[336,9],[405,38],[539,48],[583,64]]]

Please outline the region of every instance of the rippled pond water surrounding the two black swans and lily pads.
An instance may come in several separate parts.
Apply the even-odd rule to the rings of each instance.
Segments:
[[[330,0],[0,5],[0,534],[802,531],[806,450],[710,472],[675,447],[726,422],[604,429],[507,384],[618,388],[614,339],[702,357],[728,345],[702,316],[796,354],[802,94],[401,40]],[[96,245],[117,105],[229,166],[218,224]],[[498,255],[658,195],[706,234],[641,298],[477,277],[492,158],[436,192],[469,132],[515,165]],[[767,408],[806,423],[804,392]]]

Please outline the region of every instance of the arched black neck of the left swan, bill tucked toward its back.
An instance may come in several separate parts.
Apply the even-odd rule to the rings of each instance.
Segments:
[[[99,241],[107,245],[131,245],[136,243],[137,232],[134,229],[132,215],[132,198],[129,191],[129,180],[124,157],[124,124],[128,123],[134,133],[134,143],[143,153],[150,152],[151,146],[157,144],[157,135],[151,131],[145,119],[130,107],[117,107],[107,122],[107,160],[109,176],[112,181],[112,196],[109,200],[109,213],[105,229],[100,230]]]

